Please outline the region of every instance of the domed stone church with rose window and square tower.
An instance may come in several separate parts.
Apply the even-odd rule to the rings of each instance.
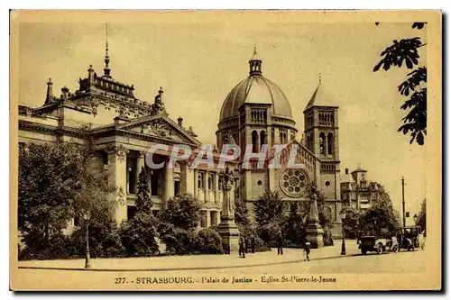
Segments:
[[[297,140],[298,129],[290,102],[281,88],[262,75],[262,59],[256,50],[249,60],[249,76],[226,96],[216,132],[217,146],[235,143],[242,153],[252,144],[254,152],[262,145],[272,148],[287,144],[281,152],[282,168],[257,168],[257,162],[239,164],[239,195],[252,212],[253,202],[266,189],[277,190],[286,201],[308,201],[305,187],[314,182],[326,195],[327,210],[336,224],[333,234],[341,235],[340,161],[338,147],[338,107],[325,105],[324,87],[319,82],[304,110],[304,135]],[[304,168],[288,168],[290,150],[296,147],[296,163]],[[242,157],[243,158],[243,157]],[[267,159],[271,165],[272,158]]]

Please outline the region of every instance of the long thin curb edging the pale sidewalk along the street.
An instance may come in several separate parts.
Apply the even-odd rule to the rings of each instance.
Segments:
[[[325,260],[325,259],[344,259],[353,256],[360,256],[361,254],[346,254],[346,255],[337,255],[331,257],[324,257],[318,259],[310,259],[310,261],[314,260]],[[274,266],[274,265],[283,265],[290,263],[299,263],[299,262],[307,262],[305,259],[296,259],[296,260],[287,260],[287,261],[278,261],[278,262],[270,262],[265,264],[251,264],[251,265],[239,265],[239,266],[223,266],[223,267],[196,267],[196,268],[57,268],[57,267],[18,267],[22,269],[45,269],[45,270],[60,270],[60,271],[87,271],[87,272],[165,272],[165,271],[189,271],[189,270],[206,270],[206,269],[223,269],[223,268],[250,268],[250,267],[263,267],[263,266]]]

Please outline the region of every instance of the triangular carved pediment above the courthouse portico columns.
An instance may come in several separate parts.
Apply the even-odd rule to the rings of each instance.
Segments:
[[[199,144],[183,127],[172,122],[167,116],[147,116],[133,120],[131,123],[121,124],[120,129],[127,132],[136,132],[154,138]]]

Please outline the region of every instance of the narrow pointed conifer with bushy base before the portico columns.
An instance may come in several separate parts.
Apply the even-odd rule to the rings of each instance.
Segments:
[[[137,184],[136,214],[121,225],[121,240],[128,255],[154,255],[158,252],[155,241],[158,222],[152,214],[153,204],[149,194],[147,172],[143,167]]]

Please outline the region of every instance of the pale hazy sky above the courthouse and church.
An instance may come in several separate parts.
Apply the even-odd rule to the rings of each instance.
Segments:
[[[321,86],[330,105],[339,106],[339,145],[342,173],[360,164],[368,177],[385,186],[401,210],[400,179],[406,180],[406,211],[418,213],[426,197],[426,148],[410,144],[397,132],[406,114],[397,86],[406,68],[373,72],[380,54],[393,40],[426,32],[411,23],[308,23],[298,18],[234,18],[197,20],[196,14],[154,15],[152,18],[108,22],[111,75],[133,84],[134,95],[153,101],[160,86],[173,120],[184,118],[198,140],[216,143],[215,132],[226,95],[248,76],[248,60],[256,45],[262,74],[287,95],[293,118],[303,132],[303,114],[312,93]],[[310,18],[311,20],[311,18]],[[19,27],[19,102],[40,106],[51,77],[60,87],[78,88],[90,64],[103,73],[105,23],[21,23]],[[419,50],[426,63],[427,47]],[[428,140],[426,140],[428,142]],[[411,218],[408,220],[411,223]]]

